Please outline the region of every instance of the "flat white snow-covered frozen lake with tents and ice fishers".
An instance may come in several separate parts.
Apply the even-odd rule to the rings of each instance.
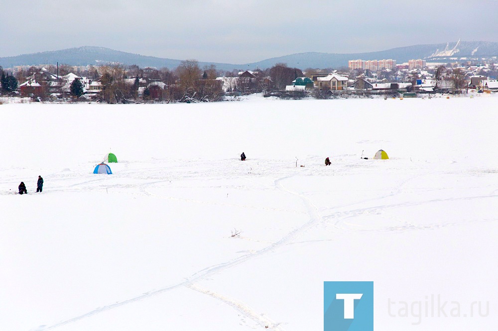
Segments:
[[[0,330],[323,330],[324,281],[373,281],[375,330],[495,330],[497,105],[0,105]]]

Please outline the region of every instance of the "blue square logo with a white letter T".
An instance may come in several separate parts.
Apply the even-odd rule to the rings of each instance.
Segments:
[[[323,282],[324,331],[373,331],[373,282]]]

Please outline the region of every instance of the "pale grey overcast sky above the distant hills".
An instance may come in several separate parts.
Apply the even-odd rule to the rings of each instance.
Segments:
[[[0,11],[0,57],[102,46],[245,64],[303,52],[498,41],[497,0],[5,0]]]

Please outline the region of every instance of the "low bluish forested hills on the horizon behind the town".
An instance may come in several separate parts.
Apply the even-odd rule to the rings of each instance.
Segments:
[[[370,53],[336,54],[336,53],[299,53],[266,59],[246,64],[226,64],[199,62],[200,66],[214,64],[221,70],[242,70],[254,68],[270,68],[276,63],[286,63],[289,67],[306,68],[340,68],[347,67],[348,60],[362,59],[394,59],[397,63],[410,59],[426,59],[427,61],[446,62],[455,58],[490,58],[498,57],[498,43],[487,41],[458,41],[447,44],[415,45],[398,47],[385,51]],[[140,67],[174,69],[181,60],[163,59],[112,50],[105,47],[84,46],[59,51],[23,54],[0,58],[0,66],[12,68],[20,65],[69,64],[74,66],[102,65],[106,63],[123,63]]]

